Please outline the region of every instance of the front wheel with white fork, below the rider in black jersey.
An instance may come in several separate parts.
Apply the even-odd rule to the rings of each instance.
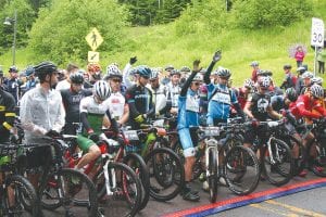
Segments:
[[[290,181],[294,162],[290,148],[284,141],[273,138],[271,150],[264,148],[261,157],[263,173],[272,184],[283,186]]]

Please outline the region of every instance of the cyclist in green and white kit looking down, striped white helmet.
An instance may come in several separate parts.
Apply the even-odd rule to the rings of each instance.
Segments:
[[[111,118],[110,102],[108,98],[111,89],[106,81],[99,80],[93,86],[93,94],[82,99],[80,101],[80,120],[83,124],[83,133],[78,135],[77,143],[86,154],[76,165],[77,169],[83,169],[89,162],[98,158],[101,154],[99,146],[96,144],[102,133],[102,126],[116,130],[116,123]]]

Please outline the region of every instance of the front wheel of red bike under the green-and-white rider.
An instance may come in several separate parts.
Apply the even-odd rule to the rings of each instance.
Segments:
[[[110,206],[110,215],[112,216],[126,216],[126,217],[135,216],[138,213],[142,202],[142,195],[141,195],[142,187],[141,187],[140,179],[129,166],[123,163],[110,162],[108,164],[108,171],[109,171],[108,176],[111,177],[110,179],[111,181],[112,181],[112,174],[110,171],[114,173],[114,175],[117,174],[118,175],[117,180],[121,182],[120,183],[115,182],[114,184],[118,184],[115,188],[113,188],[114,184],[110,182],[109,184],[111,184],[111,190],[115,191],[116,194],[108,195],[104,170],[103,168],[100,169],[93,178],[93,182],[98,192],[97,193],[98,200],[105,202],[103,203],[103,206],[105,205]],[[130,189],[128,189],[127,182],[133,184]],[[135,196],[133,197],[134,200],[131,201],[130,196],[133,195]],[[122,214],[122,209],[120,209],[120,207],[122,206],[118,206],[118,204],[113,203],[116,201],[115,199],[118,196],[123,196],[123,200],[128,205],[128,207],[126,207],[127,210],[124,214]]]

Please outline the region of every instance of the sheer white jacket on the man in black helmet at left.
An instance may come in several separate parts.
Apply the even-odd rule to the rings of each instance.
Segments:
[[[61,131],[65,112],[59,91],[46,91],[41,86],[27,91],[21,101],[21,119],[27,143],[43,143],[49,130]]]

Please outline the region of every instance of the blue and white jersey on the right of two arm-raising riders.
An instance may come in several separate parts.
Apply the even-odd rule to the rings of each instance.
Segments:
[[[226,86],[213,84],[208,85],[208,124],[213,124],[213,119],[226,120],[229,117],[230,105],[238,103],[235,92]]]

